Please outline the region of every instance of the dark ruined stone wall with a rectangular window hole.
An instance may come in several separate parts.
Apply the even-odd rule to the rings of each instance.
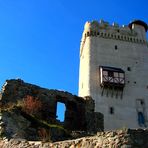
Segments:
[[[25,102],[26,99],[28,102]],[[56,119],[57,102],[66,106],[64,122]],[[72,131],[84,131],[86,135],[103,130],[103,115],[94,112],[92,98],[84,99],[68,92],[41,88],[22,80],[6,81],[0,105],[1,135],[7,138],[39,140],[39,133],[45,133],[45,128],[50,132],[51,140],[57,141],[67,139]],[[57,125],[57,128],[48,127],[48,124]]]

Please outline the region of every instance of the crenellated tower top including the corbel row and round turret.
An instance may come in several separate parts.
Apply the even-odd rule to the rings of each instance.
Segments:
[[[119,26],[117,23],[110,25],[103,20],[86,22],[81,40],[81,50],[87,37],[99,37],[105,39],[121,40],[137,44],[146,44],[146,32],[148,26],[143,21],[133,21],[129,25]]]

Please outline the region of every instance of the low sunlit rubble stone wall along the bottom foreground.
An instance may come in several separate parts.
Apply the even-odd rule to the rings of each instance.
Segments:
[[[55,143],[11,139],[9,142],[1,141],[0,146],[3,146],[3,148],[147,148],[148,130],[124,129],[118,131],[99,132],[95,136]]]

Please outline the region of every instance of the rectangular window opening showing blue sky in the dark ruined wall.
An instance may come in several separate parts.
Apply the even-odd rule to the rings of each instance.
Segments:
[[[56,116],[57,120],[60,122],[64,122],[65,120],[65,111],[66,111],[66,106],[64,103],[57,102],[57,111],[56,111]]]

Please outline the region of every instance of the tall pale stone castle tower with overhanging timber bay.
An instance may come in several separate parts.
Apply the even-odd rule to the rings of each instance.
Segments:
[[[91,96],[105,129],[148,127],[148,26],[86,22],[80,47],[79,96]]]

